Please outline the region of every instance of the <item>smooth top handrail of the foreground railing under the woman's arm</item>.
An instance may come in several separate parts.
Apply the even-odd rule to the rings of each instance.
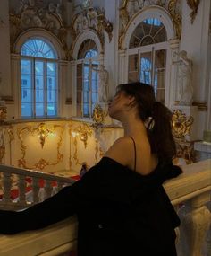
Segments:
[[[184,165],[182,170],[183,173],[178,178],[166,181],[164,185],[174,205],[205,191],[211,192],[211,159]],[[74,249],[76,240],[77,219],[72,216],[42,230],[11,236],[0,235],[0,256],[13,256],[14,253],[16,256],[30,256],[31,252],[36,252],[33,255],[56,256]],[[39,246],[40,243],[42,246]],[[191,253],[192,255],[195,254]]]

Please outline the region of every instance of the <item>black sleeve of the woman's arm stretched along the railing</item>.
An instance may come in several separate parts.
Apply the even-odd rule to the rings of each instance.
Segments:
[[[55,196],[22,211],[0,210],[0,234],[16,234],[52,225],[77,214],[93,199],[95,193],[95,167],[80,181],[60,190]]]

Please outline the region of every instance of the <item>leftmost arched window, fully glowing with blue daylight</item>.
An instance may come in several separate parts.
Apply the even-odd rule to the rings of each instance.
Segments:
[[[47,40],[31,38],[21,46],[21,117],[57,115],[57,54]]]

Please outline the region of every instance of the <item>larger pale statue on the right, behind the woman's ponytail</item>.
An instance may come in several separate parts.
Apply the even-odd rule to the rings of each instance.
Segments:
[[[187,57],[187,52],[181,50],[179,53],[174,53],[173,64],[178,65],[179,104],[190,106],[193,100],[192,61]]]

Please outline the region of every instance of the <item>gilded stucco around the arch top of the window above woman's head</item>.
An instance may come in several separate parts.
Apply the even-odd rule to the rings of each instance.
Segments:
[[[181,39],[181,10],[178,7],[178,0],[124,0],[122,7],[119,9],[120,15],[120,35],[119,49],[122,49],[122,41],[128,29],[129,23],[134,16],[140,11],[145,10],[150,6],[163,7],[171,16],[173,26],[176,32],[176,37]]]

